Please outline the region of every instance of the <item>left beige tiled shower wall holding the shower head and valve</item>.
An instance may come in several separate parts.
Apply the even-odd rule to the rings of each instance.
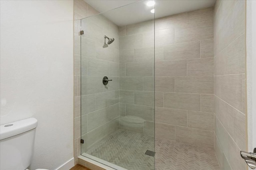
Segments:
[[[89,4],[83,0],[74,0],[75,164],[81,153],[80,146],[82,152],[86,151],[119,126],[118,26],[104,16],[95,14],[98,12]],[[80,19],[88,16],[91,17],[82,20],[84,34],[79,35]],[[104,35],[115,38],[107,48],[103,48]],[[104,86],[103,76],[108,76],[113,81]],[[84,139],[82,145],[81,138]]]

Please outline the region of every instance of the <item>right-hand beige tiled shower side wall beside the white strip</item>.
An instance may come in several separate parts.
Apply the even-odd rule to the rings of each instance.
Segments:
[[[246,1],[217,0],[214,8],[214,149],[223,170],[245,170]]]

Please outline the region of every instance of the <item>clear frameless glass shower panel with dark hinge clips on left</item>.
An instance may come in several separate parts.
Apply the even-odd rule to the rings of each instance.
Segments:
[[[81,154],[115,169],[155,169],[153,8],[81,20]]]

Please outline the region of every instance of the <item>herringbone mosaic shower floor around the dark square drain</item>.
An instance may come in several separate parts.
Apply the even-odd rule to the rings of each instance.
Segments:
[[[154,137],[119,129],[86,153],[127,170],[220,170],[213,149],[157,138],[156,165],[146,150],[154,151]]]

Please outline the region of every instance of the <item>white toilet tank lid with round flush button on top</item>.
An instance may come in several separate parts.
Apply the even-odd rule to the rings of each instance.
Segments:
[[[0,126],[0,140],[24,133],[37,127],[37,119],[34,117],[15,121]]]

